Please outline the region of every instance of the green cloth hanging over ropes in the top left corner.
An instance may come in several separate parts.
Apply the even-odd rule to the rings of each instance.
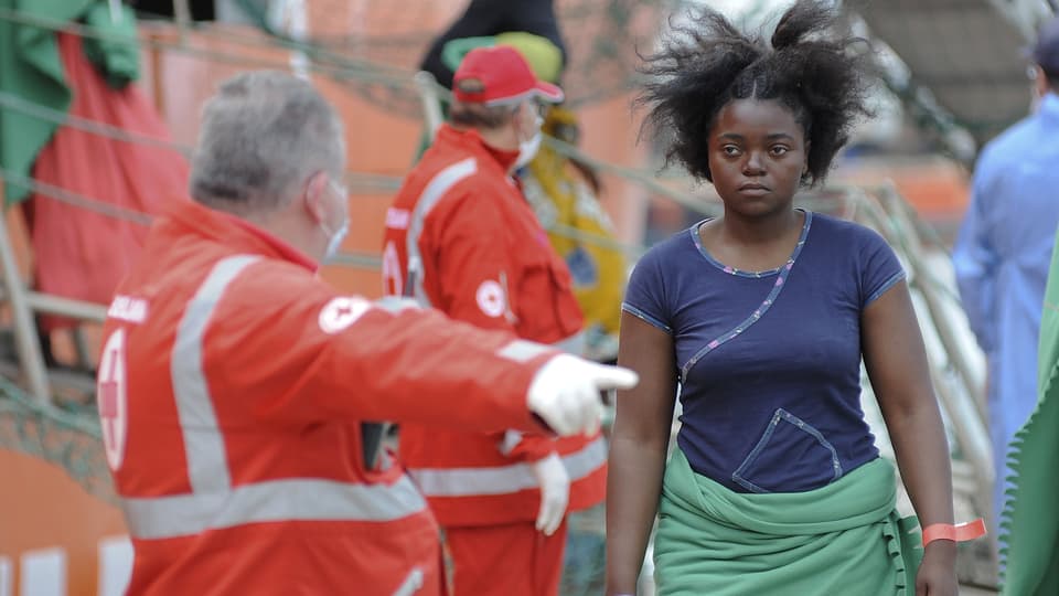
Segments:
[[[121,35],[121,31],[135,28],[128,19],[116,29],[111,28],[106,0],[0,0],[0,9],[61,23],[78,20],[97,6],[107,10],[107,19],[101,23],[105,34],[117,31],[117,35]],[[100,52],[100,62],[116,70],[114,76],[136,77],[138,64],[130,71],[129,56],[138,61],[138,47],[107,42],[101,44]],[[115,57],[118,54],[124,57]],[[0,19],[0,92],[18,95],[45,108],[69,109],[72,95],[66,87],[58,43],[52,30]],[[29,177],[38,153],[57,127],[55,123],[0,108],[0,168]],[[7,204],[22,201],[28,195],[29,189],[4,183]]]

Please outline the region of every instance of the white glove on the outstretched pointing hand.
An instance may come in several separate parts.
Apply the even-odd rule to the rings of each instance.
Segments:
[[[560,436],[599,430],[603,414],[600,392],[637,386],[640,377],[629,369],[605,366],[559,354],[537,371],[526,402]]]

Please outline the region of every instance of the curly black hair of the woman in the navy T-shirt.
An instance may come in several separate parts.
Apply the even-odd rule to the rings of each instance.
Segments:
[[[649,76],[639,105],[650,106],[644,126],[672,135],[666,163],[683,163],[713,181],[709,130],[732,99],[777,99],[805,131],[809,168],[802,181],[822,181],[865,106],[867,71],[849,45],[859,38],[827,38],[837,15],[830,4],[800,0],[777,24],[771,47],[702,8],[691,24],[674,28],[662,50],[645,56]]]

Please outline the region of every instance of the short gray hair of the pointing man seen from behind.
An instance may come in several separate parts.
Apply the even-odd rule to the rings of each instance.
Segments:
[[[236,75],[203,108],[191,195],[246,214],[285,205],[313,173],[341,180],[345,132],[313,86],[277,71]]]

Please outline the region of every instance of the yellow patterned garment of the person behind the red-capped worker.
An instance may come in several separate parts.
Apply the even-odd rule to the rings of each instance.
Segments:
[[[563,125],[576,125],[576,118],[569,110],[553,107],[545,121],[545,132]],[[610,217],[569,160],[546,146],[530,162],[523,188],[537,219],[548,231],[552,246],[570,268],[574,294],[585,315],[589,343],[593,333],[609,337],[613,342],[621,317],[625,257],[616,247],[592,242],[593,238],[616,242]],[[555,230],[556,225],[573,227],[589,237],[573,238],[564,231]],[[603,350],[600,356],[612,355],[607,351]]]

